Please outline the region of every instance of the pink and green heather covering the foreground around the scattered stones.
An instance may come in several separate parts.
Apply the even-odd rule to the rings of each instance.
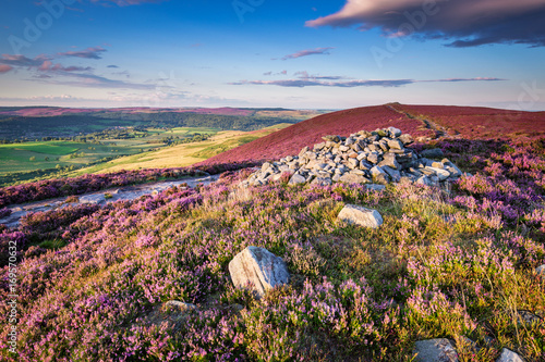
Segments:
[[[473,175],[375,191],[286,179],[241,188],[252,173],[243,170],[209,186],[29,215],[0,235],[26,245],[20,354],[2,328],[3,359],[410,361],[414,341],[437,337],[456,340],[462,361],[493,361],[504,347],[545,359],[543,322],[521,322],[545,316],[534,272],[545,263],[543,148],[421,147],[435,146]],[[346,203],[378,210],[383,226],[339,223]],[[261,300],[234,288],[227,265],[247,246],[282,257],[290,284]],[[179,323],[150,321],[169,300],[197,309]]]

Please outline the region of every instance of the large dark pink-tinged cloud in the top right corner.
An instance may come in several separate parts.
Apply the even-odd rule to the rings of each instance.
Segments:
[[[485,43],[545,46],[545,0],[347,0],[335,14],[306,26],[380,28],[387,36],[448,39],[464,48]]]

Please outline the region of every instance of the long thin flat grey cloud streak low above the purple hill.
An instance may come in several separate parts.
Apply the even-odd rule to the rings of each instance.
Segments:
[[[268,85],[279,87],[339,87],[339,88],[353,88],[353,87],[401,87],[415,83],[451,83],[451,82],[496,82],[506,80],[501,78],[448,78],[448,79],[431,79],[431,80],[415,80],[415,79],[354,79],[344,82],[325,82],[324,79],[342,79],[338,76],[315,76],[299,79],[281,79],[281,80],[240,80],[230,83],[230,85]]]

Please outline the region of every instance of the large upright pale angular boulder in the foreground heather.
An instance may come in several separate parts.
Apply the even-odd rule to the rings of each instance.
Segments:
[[[235,287],[250,287],[257,298],[277,285],[287,284],[290,273],[282,258],[264,248],[247,247],[229,262]]]

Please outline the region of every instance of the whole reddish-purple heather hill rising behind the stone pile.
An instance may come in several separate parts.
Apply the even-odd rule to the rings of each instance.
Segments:
[[[349,135],[393,126],[413,137],[444,136],[470,139],[540,137],[545,112],[522,112],[451,105],[389,103],[324,114],[210,158],[197,165],[275,160],[298,154],[326,135]]]

